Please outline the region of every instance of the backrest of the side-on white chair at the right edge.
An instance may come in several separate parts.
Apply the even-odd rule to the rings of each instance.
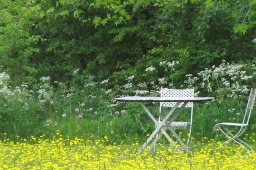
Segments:
[[[255,103],[255,97],[256,97],[256,89],[251,89],[247,107],[246,107],[246,112],[244,114],[243,124],[249,123],[249,120],[251,117],[251,111],[253,110],[254,103]]]

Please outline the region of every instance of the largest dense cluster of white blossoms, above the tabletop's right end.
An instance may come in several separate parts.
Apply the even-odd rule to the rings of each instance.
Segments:
[[[253,75],[246,75],[246,71],[242,70],[243,65],[241,64],[229,64],[222,61],[218,67],[212,66],[210,69],[205,68],[205,70],[198,73],[198,77],[193,77],[193,75],[186,75],[187,79],[184,81],[188,86],[195,86],[195,82],[198,79],[201,82],[201,88],[207,89],[208,92],[216,92],[220,95],[223,92],[229,92],[227,97],[237,97],[240,93],[247,93],[248,86],[242,85],[243,81],[252,79]],[[216,89],[217,88],[217,89]]]

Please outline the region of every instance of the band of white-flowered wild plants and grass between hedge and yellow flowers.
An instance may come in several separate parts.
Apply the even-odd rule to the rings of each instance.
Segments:
[[[221,121],[239,121],[243,113],[248,89],[255,86],[254,64],[230,64],[223,61],[200,71],[196,76],[187,74],[184,82],[177,82],[182,65],[177,62],[160,62],[158,66],[143,68],[143,73],[126,73],[119,83],[115,77],[95,81],[95,77],[70,73],[69,84],[54,81],[45,76],[37,85],[23,83],[10,86],[10,77],[0,74],[0,121],[1,132],[9,138],[45,134],[51,137],[59,129],[67,136],[90,136],[95,139],[111,136],[109,142],[131,141],[147,138],[154,124],[138,103],[122,103],[116,96],[157,96],[163,88],[195,88],[198,96],[214,96],[214,102],[195,104],[193,126],[194,139],[205,134],[216,137],[214,125]],[[159,75],[159,73],[163,73]],[[117,75],[115,75],[117,76]],[[123,75],[122,75],[123,76]],[[116,79],[119,79],[116,77]],[[186,119],[181,114],[180,120]],[[251,120],[255,120],[254,113]],[[248,128],[255,131],[256,126]],[[184,134],[186,135],[186,134]],[[218,135],[218,134],[217,134]]]

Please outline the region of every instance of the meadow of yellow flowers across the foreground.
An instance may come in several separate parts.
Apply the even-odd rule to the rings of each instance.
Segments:
[[[207,140],[189,154],[157,145],[138,154],[140,145],[106,144],[101,140],[31,137],[0,142],[0,169],[256,169],[256,153]],[[197,145],[197,144],[196,144]]]

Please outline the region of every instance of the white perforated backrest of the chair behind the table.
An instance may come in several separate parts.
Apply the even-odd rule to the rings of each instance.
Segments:
[[[161,89],[161,97],[194,97],[194,89]],[[176,102],[161,102],[160,103],[160,112],[161,107],[173,107]],[[182,107],[183,103],[180,103],[178,107]],[[185,107],[193,107],[193,102],[187,103]]]

